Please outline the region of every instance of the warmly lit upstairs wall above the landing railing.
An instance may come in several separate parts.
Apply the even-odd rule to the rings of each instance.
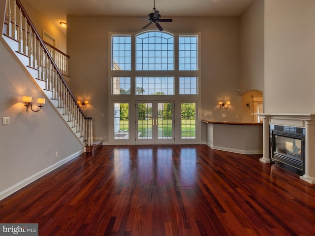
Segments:
[[[26,0],[21,0],[21,2],[38,34],[43,37],[43,31],[46,31],[56,39],[56,47],[63,53],[67,53],[66,30],[63,30],[61,27],[56,27],[52,22],[48,21],[43,14],[32,7]]]

